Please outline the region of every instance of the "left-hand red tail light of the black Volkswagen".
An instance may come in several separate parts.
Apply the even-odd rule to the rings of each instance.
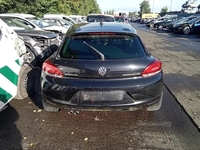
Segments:
[[[59,77],[62,78],[64,75],[62,73],[62,71],[60,71],[60,69],[58,69],[51,61],[49,61],[48,59],[43,63],[42,65],[42,70],[50,75],[50,76],[54,76],[54,77]]]

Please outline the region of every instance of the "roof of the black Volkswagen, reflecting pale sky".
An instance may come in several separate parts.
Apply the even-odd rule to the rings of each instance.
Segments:
[[[71,26],[67,34],[74,35],[87,32],[115,32],[137,34],[137,31],[132,26],[118,22],[79,23]]]

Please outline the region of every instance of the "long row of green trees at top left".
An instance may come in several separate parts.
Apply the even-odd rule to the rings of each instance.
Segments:
[[[88,15],[100,13],[96,0],[0,0],[0,13]]]

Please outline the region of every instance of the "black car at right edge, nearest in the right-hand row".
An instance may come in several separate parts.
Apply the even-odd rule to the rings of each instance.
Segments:
[[[187,22],[179,22],[174,24],[173,31],[183,34],[200,33],[200,17],[196,17]]]

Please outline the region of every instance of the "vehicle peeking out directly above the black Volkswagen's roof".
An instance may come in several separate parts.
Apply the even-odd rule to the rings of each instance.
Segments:
[[[106,14],[89,14],[86,18],[87,22],[115,22],[113,15]]]

